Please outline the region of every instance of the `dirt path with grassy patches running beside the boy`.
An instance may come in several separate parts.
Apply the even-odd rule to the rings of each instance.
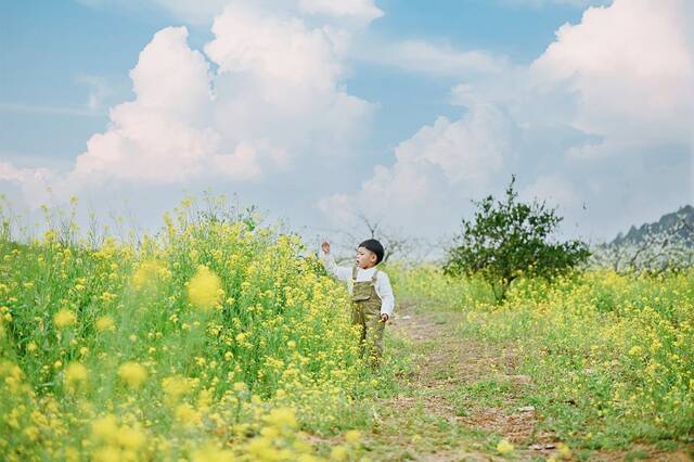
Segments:
[[[530,377],[514,373],[512,354],[470,339],[454,329],[460,313],[400,306],[389,325],[412,355],[413,372],[401,388],[378,403],[378,434],[371,448],[377,460],[497,460],[497,442],[516,447],[515,460],[551,455],[551,435],[536,433],[535,409],[522,402]]]

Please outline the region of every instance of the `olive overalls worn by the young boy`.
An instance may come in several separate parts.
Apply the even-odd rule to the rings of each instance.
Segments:
[[[368,355],[369,363],[377,367],[383,354],[383,329],[385,323],[381,321],[381,297],[376,294],[376,275],[373,273],[371,281],[357,282],[357,267],[351,271],[351,322],[361,326],[361,355]]]

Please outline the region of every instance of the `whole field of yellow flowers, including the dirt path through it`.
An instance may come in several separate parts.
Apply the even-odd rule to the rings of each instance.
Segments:
[[[7,460],[656,458],[694,447],[694,271],[488,287],[390,265],[385,365],[293,234],[183,204],[0,242]]]

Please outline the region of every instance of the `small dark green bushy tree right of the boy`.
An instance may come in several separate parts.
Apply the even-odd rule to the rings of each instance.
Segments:
[[[491,195],[474,202],[474,219],[463,219],[462,233],[448,249],[444,266],[448,274],[480,274],[491,284],[498,301],[522,273],[551,279],[590,256],[581,241],[551,242],[563,217],[544,202],[518,202],[514,183],[512,176],[503,202],[494,202]]]

